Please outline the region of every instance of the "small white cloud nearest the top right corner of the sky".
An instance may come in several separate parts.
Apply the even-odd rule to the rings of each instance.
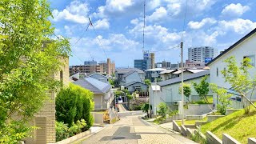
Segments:
[[[222,10],[222,15],[225,17],[238,18],[247,10],[250,10],[249,6],[242,6],[240,3],[231,3]]]

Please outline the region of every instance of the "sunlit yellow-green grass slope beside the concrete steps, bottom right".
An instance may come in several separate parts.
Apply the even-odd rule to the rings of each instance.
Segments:
[[[251,110],[250,114],[246,115],[244,112],[244,110],[239,110],[226,117],[206,123],[202,126],[202,133],[206,134],[206,130],[210,130],[221,139],[222,134],[226,133],[239,142],[247,143],[248,138],[256,137],[256,110]]]

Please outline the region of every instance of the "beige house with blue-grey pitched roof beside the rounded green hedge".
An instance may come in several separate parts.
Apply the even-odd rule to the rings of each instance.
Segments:
[[[86,77],[75,81],[74,84],[82,86],[94,93],[94,110],[107,110],[114,100],[111,85],[98,79]]]

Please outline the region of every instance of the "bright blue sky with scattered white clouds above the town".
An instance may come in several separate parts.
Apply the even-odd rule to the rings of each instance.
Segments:
[[[50,0],[55,34],[70,38],[70,65],[108,57],[117,67],[133,67],[134,59],[142,58],[143,2]],[[187,4],[183,31],[186,0],[146,0],[145,50],[159,50],[156,62],[180,61],[180,50],[173,47],[182,34],[187,58],[189,47],[224,50],[256,27],[254,0],[187,0]],[[91,27],[86,31],[89,17],[96,33]],[[161,51],[165,49],[171,50]]]

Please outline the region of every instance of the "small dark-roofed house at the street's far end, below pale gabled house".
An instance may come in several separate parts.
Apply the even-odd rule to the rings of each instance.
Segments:
[[[134,91],[138,90],[139,92],[147,92],[147,85],[142,82],[129,82],[125,84],[126,90],[128,90],[130,93],[133,93]]]

